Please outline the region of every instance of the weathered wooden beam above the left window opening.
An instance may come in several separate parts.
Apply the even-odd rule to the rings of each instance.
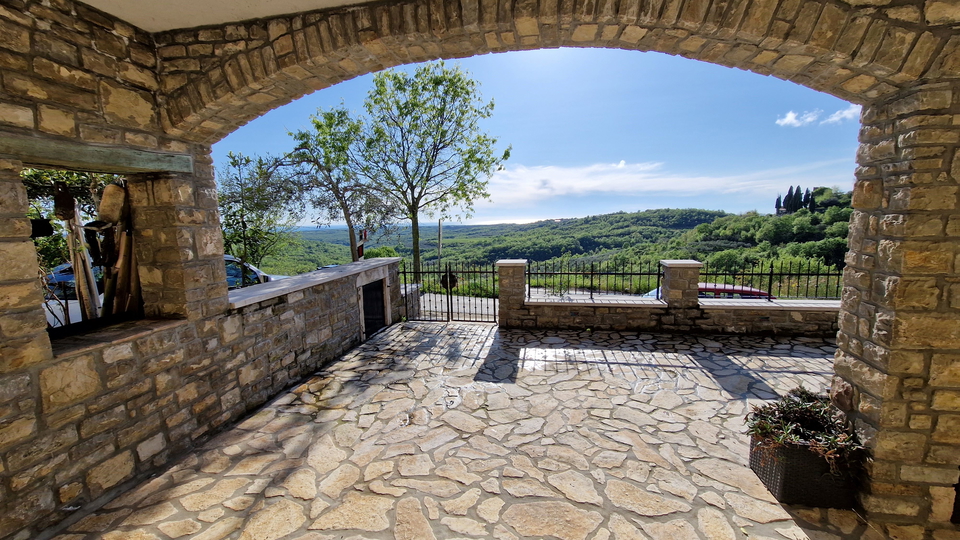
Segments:
[[[64,139],[30,137],[0,131],[0,155],[35,167],[102,173],[193,173],[193,156],[134,150]]]

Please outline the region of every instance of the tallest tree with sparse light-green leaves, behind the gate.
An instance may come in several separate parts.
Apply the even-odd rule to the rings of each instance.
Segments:
[[[361,170],[410,220],[419,278],[421,215],[469,215],[474,200],[489,197],[487,179],[510,150],[494,154],[497,140],[480,129],[493,101],[484,102],[478,83],[459,68],[437,62],[412,75],[383,71],[373,84]]]

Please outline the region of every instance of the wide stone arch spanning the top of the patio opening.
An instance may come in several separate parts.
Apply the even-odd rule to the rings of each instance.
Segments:
[[[295,14],[157,35],[161,119],[211,143],[365,73],[567,46],[664,52],[867,104],[960,75],[960,42],[920,17],[834,0],[412,0]]]

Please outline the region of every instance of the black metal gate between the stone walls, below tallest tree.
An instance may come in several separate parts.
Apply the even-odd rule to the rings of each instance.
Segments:
[[[400,264],[405,316],[413,321],[497,322],[499,287],[491,265]]]

